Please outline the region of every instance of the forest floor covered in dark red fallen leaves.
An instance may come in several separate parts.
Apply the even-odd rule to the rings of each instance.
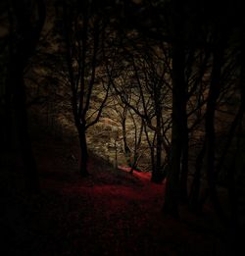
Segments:
[[[172,219],[162,212],[165,182],[149,173],[130,175],[91,154],[91,176],[81,179],[72,142],[39,136],[33,148],[41,192],[28,195],[16,171],[2,185],[1,255],[225,255],[208,205],[199,215],[181,206]]]

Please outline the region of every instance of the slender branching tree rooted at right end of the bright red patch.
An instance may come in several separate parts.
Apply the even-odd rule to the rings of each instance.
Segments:
[[[165,135],[170,122],[168,118],[170,114],[164,112],[164,108],[169,104],[166,99],[170,91],[169,70],[162,61],[165,50],[154,44],[144,44],[142,40],[133,38],[130,34],[127,40],[131,45],[127,46],[125,42],[123,56],[126,56],[124,57],[126,65],[122,67],[127,77],[123,78],[123,84],[113,81],[113,85],[116,92],[121,95],[123,104],[142,120],[142,125],[151,130],[149,132],[155,133],[154,140],[147,139],[147,141],[151,150],[152,181],[161,182],[163,145],[166,144]],[[122,75],[119,72],[117,76]]]

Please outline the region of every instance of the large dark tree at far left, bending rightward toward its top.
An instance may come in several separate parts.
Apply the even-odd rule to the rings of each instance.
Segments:
[[[39,181],[28,134],[24,74],[44,25],[45,4],[42,0],[13,0],[9,3],[8,11],[10,39],[5,106],[6,128],[11,133],[7,132],[7,137],[10,143],[9,136],[15,136],[16,133],[25,169],[26,186],[31,191],[36,191],[39,189]]]

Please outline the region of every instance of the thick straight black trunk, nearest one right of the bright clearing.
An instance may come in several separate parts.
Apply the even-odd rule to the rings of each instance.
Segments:
[[[185,54],[183,3],[172,2],[172,149],[167,176],[164,213],[178,216],[179,173],[182,153],[183,110],[185,110]]]

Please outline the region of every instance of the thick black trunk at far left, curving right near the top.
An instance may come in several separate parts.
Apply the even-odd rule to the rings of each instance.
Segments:
[[[28,133],[24,72],[27,61],[39,40],[46,13],[45,4],[42,0],[35,1],[36,10],[31,9],[29,11],[26,4],[23,1],[12,1],[13,13],[17,19],[18,26],[15,31],[11,31],[11,36],[15,32],[19,40],[14,43],[14,38],[11,38],[10,47],[12,49],[10,52],[7,87],[13,96],[13,110],[15,113],[13,118],[16,122],[17,142],[24,164],[26,188],[30,192],[37,192],[39,190],[39,179]],[[30,21],[33,13],[37,18],[34,25]]]

